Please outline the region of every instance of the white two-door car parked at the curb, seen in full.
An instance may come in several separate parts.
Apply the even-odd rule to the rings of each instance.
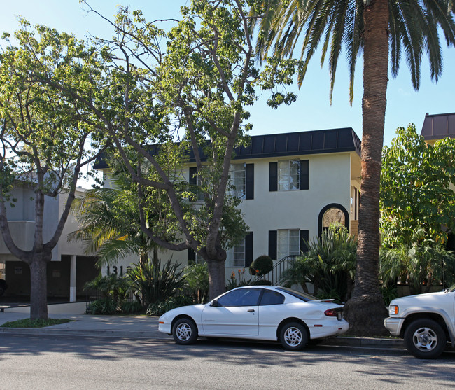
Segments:
[[[199,336],[279,340],[297,351],[309,340],[349,329],[343,307],[332,301],[279,286],[239,287],[206,305],[169,310],[160,316],[158,330],[179,344],[192,344]]]

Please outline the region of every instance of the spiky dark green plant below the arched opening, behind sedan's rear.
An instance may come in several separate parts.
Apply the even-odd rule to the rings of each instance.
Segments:
[[[299,284],[307,293],[307,283],[311,283],[316,297],[346,302],[356,272],[356,239],[346,228],[332,226],[321,237],[308,242],[307,247],[308,252],[283,272],[283,284]]]

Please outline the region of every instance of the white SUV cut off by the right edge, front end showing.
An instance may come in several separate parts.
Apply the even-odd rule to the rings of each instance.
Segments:
[[[447,341],[455,347],[455,284],[440,293],[394,299],[388,314],[384,326],[416,358],[440,356]]]

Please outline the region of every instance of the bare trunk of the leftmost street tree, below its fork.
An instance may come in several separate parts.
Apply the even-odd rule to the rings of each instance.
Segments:
[[[30,266],[30,319],[48,319],[48,262],[34,258]]]

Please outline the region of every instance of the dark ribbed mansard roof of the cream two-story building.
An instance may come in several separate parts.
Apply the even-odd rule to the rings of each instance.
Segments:
[[[360,139],[351,127],[253,135],[250,138],[251,142],[248,146],[235,148],[235,160],[340,152],[356,152],[360,155]],[[152,145],[150,153],[155,154],[157,150],[158,145]],[[200,153],[202,153],[202,148]],[[189,162],[195,162],[192,149]],[[106,161],[102,157],[94,164],[94,169],[106,169],[107,167]]]

